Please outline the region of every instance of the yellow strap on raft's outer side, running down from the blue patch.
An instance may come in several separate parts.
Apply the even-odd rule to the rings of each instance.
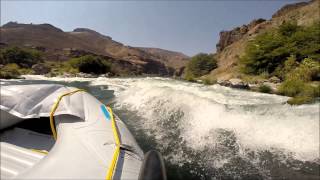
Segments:
[[[113,152],[112,161],[110,163],[107,176],[106,176],[106,180],[112,180],[113,172],[115,170],[115,167],[117,165],[117,161],[120,155],[120,138],[117,131],[116,121],[114,120],[114,117],[113,117],[112,109],[110,107],[107,107],[107,108],[111,117],[112,132],[113,132],[113,137],[116,143],[116,149]]]

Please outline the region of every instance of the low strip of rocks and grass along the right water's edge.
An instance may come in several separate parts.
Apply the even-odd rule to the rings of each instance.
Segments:
[[[291,97],[287,102],[290,105],[312,104],[316,101],[319,101],[320,98],[319,81],[281,81],[279,78],[275,76],[268,79],[261,78],[259,76],[245,76],[243,78],[212,80],[207,76],[203,76],[197,79],[193,79],[190,82],[196,82],[205,85],[219,84],[221,86],[242,89],[252,92],[288,96]]]

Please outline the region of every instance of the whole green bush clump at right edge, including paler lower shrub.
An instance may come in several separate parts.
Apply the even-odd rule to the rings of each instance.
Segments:
[[[319,86],[311,85],[320,80],[319,37],[319,23],[309,27],[284,23],[247,44],[241,70],[247,75],[280,78],[278,93],[293,97],[289,104],[313,102],[319,97]]]

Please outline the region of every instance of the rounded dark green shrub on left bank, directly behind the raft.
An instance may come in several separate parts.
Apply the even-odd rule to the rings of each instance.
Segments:
[[[68,62],[72,68],[83,73],[104,74],[110,72],[110,64],[98,56],[86,55],[79,58],[73,58]],[[67,67],[66,68],[70,68]],[[74,69],[69,69],[74,70]]]

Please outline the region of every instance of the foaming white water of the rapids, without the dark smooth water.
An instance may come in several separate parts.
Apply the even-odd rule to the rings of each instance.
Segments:
[[[194,152],[219,148],[217,132],[221,129],[233,133],[239,147],[237,155],[243,158],[247,158],[248,150],[268,150],[319,163],[319,103],[290,106],[283,96],[168,78],[72,80],[90,81],[91,86],[108,85],[115,91],[115,108],[141,117],[131,119],[135,128],[154,136],[160,148],[177,146],[166,155],[172,163],[195,160],[185,155],[185,148],[179,147],[182,144]],[[219,168],[229,161],[227,156],[206,154],[204,163]]]

